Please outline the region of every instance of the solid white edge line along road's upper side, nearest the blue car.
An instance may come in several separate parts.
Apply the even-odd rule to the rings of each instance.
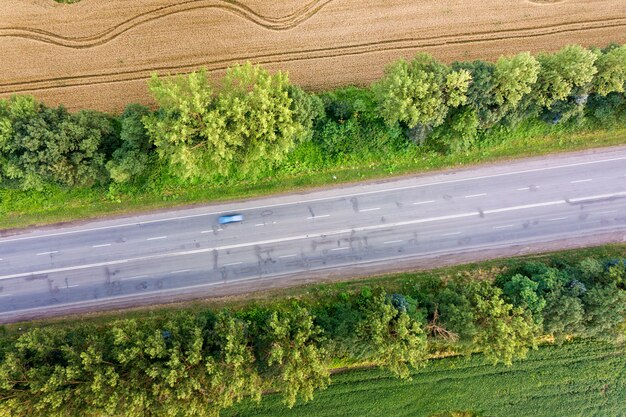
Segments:
[[[400,190],[409,190],[409,189],[412,189],[412,188],[429,187],[429,186],[433,186],[433,185],[452,184],[452,183],[457,183],[457,182],[466,182],[466,181],[482,180],[482,179],[488,179],[488,178],[506,177],[506,176],[510,176],[510,175],[527,174],[527,173],[531,173],[531,172],[541,172],[541,171],[549,171],[549,170],[555,170],[555,169],[561,169],[561,168],[570,168],[570,167],[575,167],[575,166],[593,165],[593,164],[601,164],[601,163],[605,163],[605,162],[623,161],[624,159],[626,159],[626,156],[620,156],[620,157],[615,157],[615,158],[599,159],[597,161],[584,161],[584,162],[576,162],[576,163],[572,163],[572,164],[555,165],[555,166],[550,166],[550,167],[522,169],[522,170],[519,170],[519,171],[502,172],[500,174],[479,175],[479,176],[476,176],[476,177],[459,178],[459,179],[447,180],[447,181],[435,181],[435,182],[425,183],[425,184],[414,184],[414,185],[407,185],[407,186],[403,186],[403,187],[392,187],[392,188],[387,188],[387,189],[384,189],[384,190],[363,191],[363,192],[360,192],[360,193],[348,193],[348,194],[339,195],[339,196],[332,196],[332,197],[329,196],[329,197],[312,198],[312,199],[308,199],[308,200],[293,201],[293,202],[289,202],[289,203],[266,204],[266,205],[262,205],[262,206],[253,206],[253,207],[242,208],[242,209],[240,209],[240,211],[259,210],[259,209],[265,209],[265,208],[271,208],[271,207],[281,207],[281,206],[288,206],[288,205],[294,205],[294,204],[303,204],[303,203],[313,203],[313,202],[316,202],[316,201],[326,201],[326,200],[340,199],[340,198],[346,197],[346,196],[378,194],[378,193],[385,193],[385,192],[390,192],[390,191],[400,191]],[[168,222],[168,221],[173,221],[173,220],[190,219],[190,218],[194,218],[194,217],[206,217],[206,216],[213,216],[213,215],[222,214],[222,213],[225,213],[225,212],[224,211],[217,211],[217,212],[210,212],[210,213],[188,214],[188,215],[184,215],[184,216],[166,217],[166,218],[163,218],[163,219],[140,221],[140,222],[136,222],[136,223],[113,224],[113,225],[109,225],[109,226],[92,227],[92,228],[88,228],[88,229],[68,230],[68,231],[65,231],[65,232],[49,233],[49,234],[45,234],[45,235],[21,236],[21,237],[12,238],[12,239],[0,240],[0,244],[1,243],[7,243],[7,242],[15,242],[15,241],[18,241],[18,240],[39,239],[39,238],[44,238],[44,237],[62,236],[62,235],[69,235],[69,234],[76,234],[76,233],[91,232],[91,231],[96,231],[96,230],[118,229],[120,227],[139,226],[139,225],[152,224],[152,223],[162,223],[162,222]]]

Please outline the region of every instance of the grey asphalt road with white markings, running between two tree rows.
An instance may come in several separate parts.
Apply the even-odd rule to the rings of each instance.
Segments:
[[[0,321],[607,231],[626,239],[626,147],[7,236]]]

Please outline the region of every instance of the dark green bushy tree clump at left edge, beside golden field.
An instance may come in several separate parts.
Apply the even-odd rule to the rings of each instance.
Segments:
[[[0,100],[0,182],[27,190],[46,183],[86,187],[103,180],[101,145],[112,130],[100,113],[70,114],[30,96]]]

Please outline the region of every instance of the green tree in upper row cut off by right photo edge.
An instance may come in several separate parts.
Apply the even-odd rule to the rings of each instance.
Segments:
[[[593,79],[593,90],[606,96],[612,92],[623,93],[626,84],[626,45],[614,46],[607,51],[595,51],[598,73]]]

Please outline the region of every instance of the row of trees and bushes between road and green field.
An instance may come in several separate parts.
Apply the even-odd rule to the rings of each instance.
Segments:
[[[433,276],[391,294],[362,287],[238,311],[2,331],[0,415],[215,416],[268,390],[291,407],[328,386],[332,363],[410,378],[442,349],[512,364],[541,335],[616,340],[624,267],[526,262],[495,281]]]

